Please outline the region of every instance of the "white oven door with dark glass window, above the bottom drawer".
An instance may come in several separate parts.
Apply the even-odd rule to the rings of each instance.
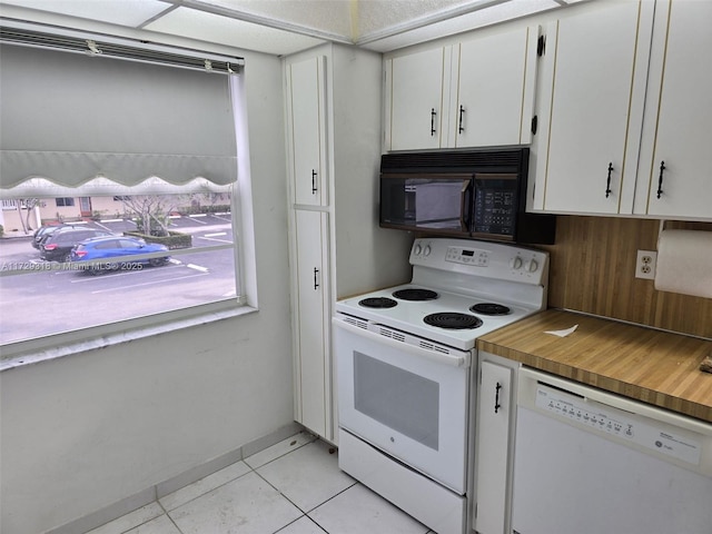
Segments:
[[[339,426],[465,494],[472,354],[334,318]]]

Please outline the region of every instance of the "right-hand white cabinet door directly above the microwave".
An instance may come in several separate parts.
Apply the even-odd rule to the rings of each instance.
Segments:
[[[527,37],[522,28],[459,44],[457,106],[451,110],[456,147],[523,142],[522,112],[532,99],[525,95]]]

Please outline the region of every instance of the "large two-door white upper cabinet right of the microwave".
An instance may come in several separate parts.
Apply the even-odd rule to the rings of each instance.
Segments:
[[[601,1],[546,28],[533,208],[712,219],[712,2]]]

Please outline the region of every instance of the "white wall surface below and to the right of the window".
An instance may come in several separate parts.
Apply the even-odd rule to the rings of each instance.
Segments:
[[[2,533],[63,525],[293,421],[281,66],[244,56],[259,312],[0,374]]]

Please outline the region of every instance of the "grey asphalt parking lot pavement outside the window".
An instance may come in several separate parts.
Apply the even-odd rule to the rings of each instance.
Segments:
[[[122,219],[87,225],[115,234],[136,228],[131,221]],[[192,247],[171,250],[165,266],[140,266],[100,276],[89,276],[71,265],[41,260],[29,236],[0,239],[0,343],[235,296],[229,214],[174,218],[170,229],[190,234]]]

